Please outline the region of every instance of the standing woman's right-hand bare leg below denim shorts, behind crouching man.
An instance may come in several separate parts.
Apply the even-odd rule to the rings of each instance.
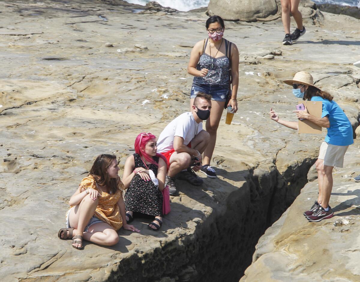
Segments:
[[[206,120],[206,131],[210,134],[210,140],[204,150],[203,165],[210,165],[212,154],[214,153],[216,144],[216,132],[219,127],[222,112],[224,110],[225,102],[211,101],[210,118]]]

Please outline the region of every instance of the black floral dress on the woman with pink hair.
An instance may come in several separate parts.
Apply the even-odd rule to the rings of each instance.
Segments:
[[[145,168],[143,160],[140,155],[134,154],[135,168]],[[156,163],[159,163],[159,157],[153,157]],[[155,176],[157,176],[158,167],[154,164],[149,164]],[[162,192],[150,181],[143,180],[138,174],[135,174],[130,182],[130,187],[125,193],[125,209],[128,211],[135,211],[143,214],[153,215],[155,217],[162,217]]]

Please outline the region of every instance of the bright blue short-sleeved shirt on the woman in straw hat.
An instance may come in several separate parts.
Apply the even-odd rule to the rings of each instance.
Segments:
[[[311,97],[311,101],[323,102],[323,114],[321,118],[328,117],[330,127],[325,137],[325,142],[337,145],[348,146],[354,143],[352,127],[349,119],[339,105],[334,101],[323,99],[320,96]]]

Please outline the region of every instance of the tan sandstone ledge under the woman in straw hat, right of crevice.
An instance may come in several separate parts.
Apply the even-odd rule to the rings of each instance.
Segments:
[[[303,211],[318,197],[317,180],[301,190],[291,207],[256,246],[241,282],[359,281],[359,141],[346,153],[345,168],[334,169],[330,205],[334,217],[308,222]]]

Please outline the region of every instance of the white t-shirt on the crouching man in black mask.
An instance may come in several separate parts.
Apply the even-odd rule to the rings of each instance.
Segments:
[[[174,149],[174,137],[184,138],[184,145],[188,145],[190,141],[202,131],[202,122],[195,122],[191,112],[186,112],[170,122],[160,133],[157,141],[158,153],[164,153]]]

